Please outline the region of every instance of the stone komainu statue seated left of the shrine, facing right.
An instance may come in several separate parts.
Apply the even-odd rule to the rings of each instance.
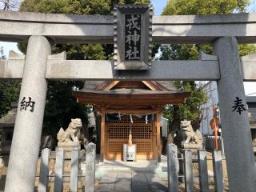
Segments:
[[[58,131],[58,142],[78,142],[81,136],[80,129],[82,128],[82,121],[80,118],[71,119],[70,125],[66,130],[61,129]]]

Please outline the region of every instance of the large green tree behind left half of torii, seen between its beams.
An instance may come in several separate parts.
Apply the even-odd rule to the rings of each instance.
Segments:
[[[113,14],[116,3],[150,3],[149,0],[25,0],[21,11],[54,14]],[[19,50],[26,53],[26,44],[19,43]],[[53,54],[66,51],[70,60],[106,60],[113,55],[113,45],[54,45]],[[60,126],[66,127],[70,118],[86,119],[88,106],[77,103],[72,91],[82,89],[83,82],[49,82],[46,96],[46,112],[43,129],[47,134],[56,135]]]

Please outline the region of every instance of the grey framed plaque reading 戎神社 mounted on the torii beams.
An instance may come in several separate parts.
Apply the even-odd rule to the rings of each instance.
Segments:
[[[150,5],[114,6],[114,69],[149,70],[152,54]]]

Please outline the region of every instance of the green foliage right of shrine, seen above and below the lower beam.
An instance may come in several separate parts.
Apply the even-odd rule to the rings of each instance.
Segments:
[[[198,60],[199,50],[205,50],[207,54],[211,54],[212,49],[210,46],[198,46],[198,45],[162,45],[160,50],[162,51],[162,60]],[[179,118],[189,119],[191,121],[197,121],[200,115],[199,106],[207,102],[206,93],[203,89],[202,83],[176,81],[175,86],[178,90],[191,92],[190,97],[186,98],[184,104],[179,104]],[[170,122],[174,119],[173,106],[166,106],[165,110],[166,118],[170,119]],[[176,118],[179,120],[179,118]]]

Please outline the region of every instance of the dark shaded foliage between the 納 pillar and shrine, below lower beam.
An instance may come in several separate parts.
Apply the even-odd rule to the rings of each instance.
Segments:
[[[44,131],[56,135],[60,126],[67,127],[70,118],[81,118],[87,123],[89,106],[76,102],[72,97],[74,87],[82,89],[82,82],[49,82],[46,95],[46,111],[44,115]]]

